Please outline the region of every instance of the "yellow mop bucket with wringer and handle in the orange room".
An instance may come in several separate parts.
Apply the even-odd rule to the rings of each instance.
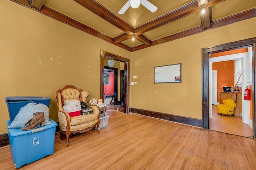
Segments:
[[[241,73],[242,75],[242,73]],[[241,77],[240,75],[240,77]],[[238,78],[238,81],[240,79],[240,77]],[[238,81],[236,82],[236,85],[238,83]],[[235,87],[236,87],[235,85]],[[232,96],[234,91],[232,91],[230,97]],[[217,110],[218,110],[218,114],[219,115],[230,115],[231,117],[234,116],[234,108],[236,107],[236,101],[230,99],[230,97],[226,100],[223,100],[223,103],[224,104],[220,104],[220,105],[217,105]],[[236,94],[236,100],[237,100],[237,94]]]

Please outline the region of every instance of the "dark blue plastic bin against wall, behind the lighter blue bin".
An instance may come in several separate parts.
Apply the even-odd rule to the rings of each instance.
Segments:
[[[10,121],[12,122],[16,115],[19,113],[20,108],[26,106],[30,102],[42,103],[49,107],[51,98],[49,97],[6,97],[6,103],[9,111]]]

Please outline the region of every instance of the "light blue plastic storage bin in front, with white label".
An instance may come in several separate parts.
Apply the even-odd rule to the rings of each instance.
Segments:
[[[53,154],[57,123],[50,119],[51,125],[33,130],[8,128],[8,137],[14,168],[20,168],[36,160]],[[7,126],[10,126],[10,120]]]

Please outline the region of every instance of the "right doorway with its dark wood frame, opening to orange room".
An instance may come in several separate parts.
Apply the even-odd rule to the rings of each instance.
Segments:
[[[251,38],[202,49],[202,87],[208,87],[202,88],[203,128],[255,138],[255,45],[256,38]],[[236,83],[240,93],[224,92],[223,86]],[[244,100],[247,86],[251,101]],[[236,101],[234,116],[218,114],[223,97]]]

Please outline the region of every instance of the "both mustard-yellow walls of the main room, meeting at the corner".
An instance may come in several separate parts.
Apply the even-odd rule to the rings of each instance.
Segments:
[[[0,133],[8,132],[6,96],[50,97],[55,121],[55,91],[65,85],[90,91],[89,99],[98,98],[100,49],[131,59],[130,81],[137,84],[130,85],[130,107],[202,119],[202,48],[256,37],[252,28],[255,17],[130,53],[0,0]],[[154,67],[175,63],[182,63],[182,83],[154,84]]]

